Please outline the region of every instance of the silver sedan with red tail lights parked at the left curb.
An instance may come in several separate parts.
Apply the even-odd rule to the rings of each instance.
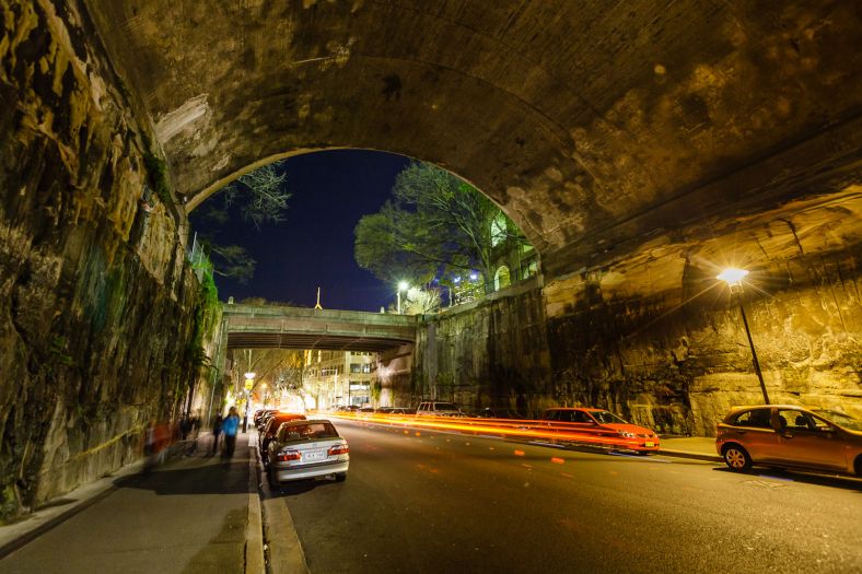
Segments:
[[[326,420],[290,421],[282,424],[269,444],[269,483],[334,476],[347,479],[350,448]]]

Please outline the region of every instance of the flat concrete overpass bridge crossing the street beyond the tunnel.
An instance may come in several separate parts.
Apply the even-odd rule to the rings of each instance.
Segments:
[[[269,305],[224,305],[228,349],[381,352],[416,341],[416,316]]]

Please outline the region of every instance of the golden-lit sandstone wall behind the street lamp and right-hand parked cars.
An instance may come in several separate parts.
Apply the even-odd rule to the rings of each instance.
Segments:
[[[803,249],[753,273],[744,301],[772,402],[862,418],[860,260],[859,244]],[[676,289],[652,296],[622,295],[619,269],[606,269],[429,319],[417,395],[435,386],[469,409],[532,415],[604,407],[662,433],[714,435],[731,406],[762,403],[739,309],[712,268],[684,257],[678,273],[662,269],[655,281]]]

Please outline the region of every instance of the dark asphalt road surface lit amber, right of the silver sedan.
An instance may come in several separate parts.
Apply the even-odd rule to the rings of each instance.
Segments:
[[[315,574],[862,572],[858,481],[335,422],[348,480],[277,491]]]

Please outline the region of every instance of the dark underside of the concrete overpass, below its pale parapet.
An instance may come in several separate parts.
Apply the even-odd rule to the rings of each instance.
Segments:
[[[380,353],[412,343],[403,339],[380,339],[339,335],[284,332],[231,332],[228,349],[321,349]]]

